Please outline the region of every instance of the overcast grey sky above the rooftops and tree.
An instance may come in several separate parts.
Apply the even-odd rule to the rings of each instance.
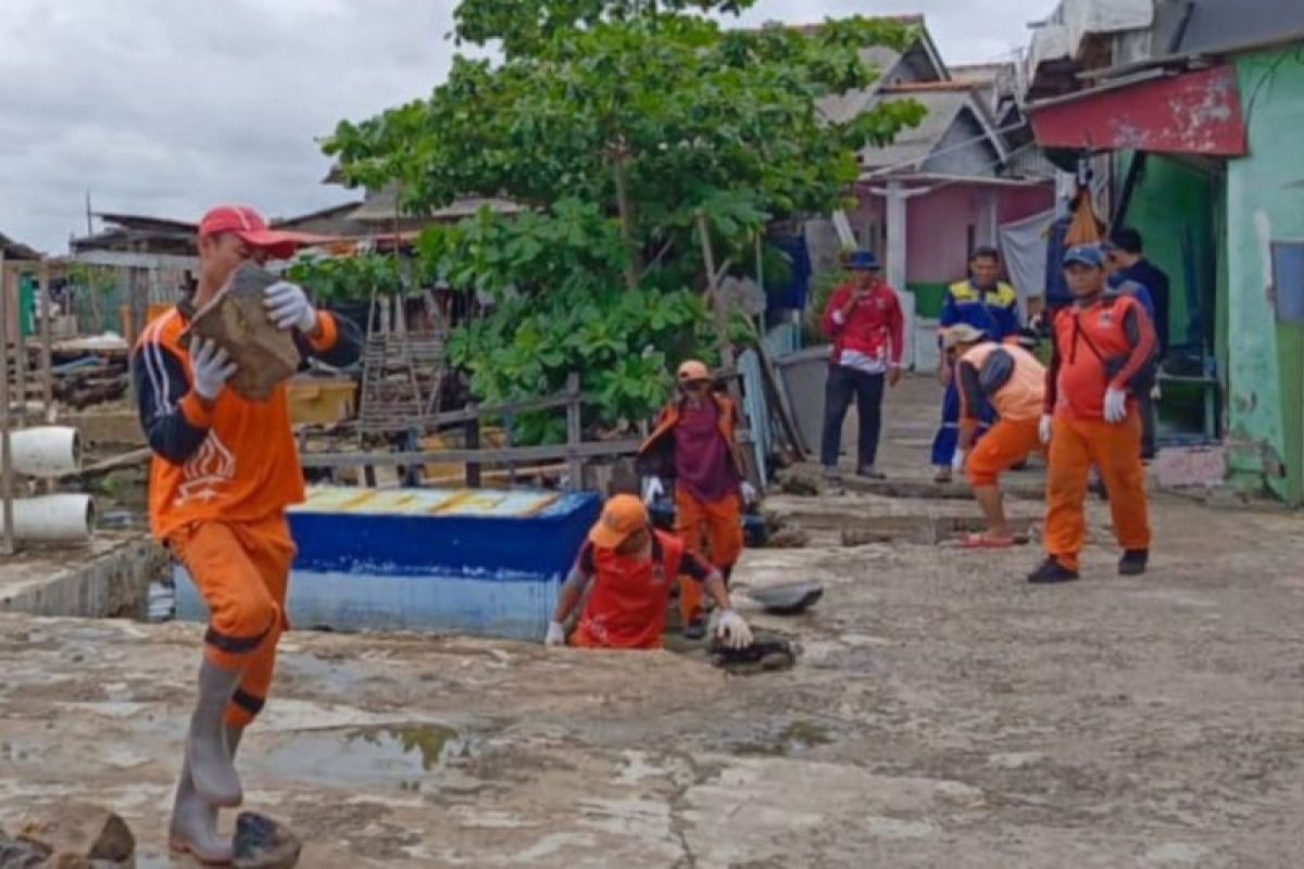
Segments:
[[[0,232],[50,253],[96,211],[289,216],[347,201],[314,138],[429,93],[454,0],[3,0]],[[1054,0],[759,0],[746,21],[921,12],[948,63],[1009,56]]]

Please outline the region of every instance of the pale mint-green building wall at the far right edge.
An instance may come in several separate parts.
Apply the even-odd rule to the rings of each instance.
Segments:
[[[1277,322],[1270,242],[1304,238],[1304,63],[1297,46],[1236,61],[1249,155],[1227,163],[1232,478],[1304,502],[1304,335]]]

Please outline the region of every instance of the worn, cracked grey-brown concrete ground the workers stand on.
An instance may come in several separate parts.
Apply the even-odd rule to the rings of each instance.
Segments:
[[[927,474],[932,395],[892,396],[893,474]],[[827,588],[789,620],[743,599],[803,648],[778,674],[295,633],[241,747],[246,806],[303,834],[312,869],[1299,865],[1304,522],[1176,496],[1154,519],[1153,571],[1124,578],[1094,506],[1063,588],[1024,582],[1035,546],[751,551],[741,584]],[[137,831],[140,866],[170,865],[198,642],[0,618],[0,826],[90,799]]]

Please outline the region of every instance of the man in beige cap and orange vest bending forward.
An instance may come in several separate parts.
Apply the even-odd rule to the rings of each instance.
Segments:
[[[971,534],[962,545],[1007,548],[1015,545],[1015,537],[1001,503],[1000,474],[1042,448],[1038,429],[1046,367],[1016,340],[998,344],[968,323],[945,331],[943,349],[955,366],[960,393],[960,444],[953,468],[966,472],[987,520],[987,533]],[[996,422],[974,446],[985,405],[995,409]]]

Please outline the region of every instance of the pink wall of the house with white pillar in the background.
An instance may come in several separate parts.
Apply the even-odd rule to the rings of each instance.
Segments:
[[[994,186],[981,184],[935,184],[932,193],[918,195],[906,207],[906,281],[918,284],[951,283],[964,278],[969,257],[969,227],[977,244],[986,244],[987,198],[996,198],[996,220],[1008,223],[1045,211],[1055,194],[1045,186]],[[882,197],[861,193],[852,212],[852,227],[865,237],[867,227],[878,227],[885,241],[887,218]],[[874,235],[871,232],[871,235]],[[882,244],[882,242],[880,242]],[[885,245],[875,250],[882,258]]]

